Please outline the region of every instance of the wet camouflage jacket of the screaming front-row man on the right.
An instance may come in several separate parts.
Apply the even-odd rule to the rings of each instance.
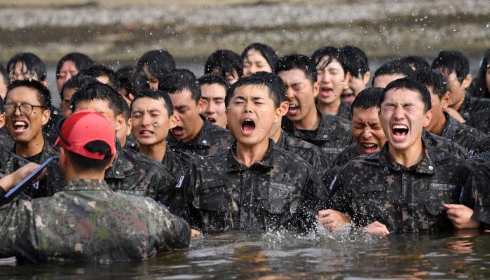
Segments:
[[[451,230],[442,203],[473,207],[472,171],[463,158],[428,145],[421,162],[403,167],[391,160],[387,142],[381,152],[343,167],[333,180],[330,206],[358,226],[379,221],[390,232]]]

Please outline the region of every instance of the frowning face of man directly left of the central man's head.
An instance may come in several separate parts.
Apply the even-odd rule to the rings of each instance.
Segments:
[[[214,125],[226,128],[226,108],[224,97],[226,89],[219,83],[200,86],[201,112]]]

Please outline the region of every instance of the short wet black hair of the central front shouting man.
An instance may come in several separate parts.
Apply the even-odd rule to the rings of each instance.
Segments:
[[[233,97],[236,88],[246,87],[249,85],[266,87],[268,90],[268,96],[273,100],[275,108],[278,108],[281,103],[286,101],[286,88],[284,86],[283,79],[273,73],[261,71],[253,73],[250,76],[243,77],[231,85],[228,92],[226,92],[226,97],[224,99],[226,108],[228,108],[231,97]]]

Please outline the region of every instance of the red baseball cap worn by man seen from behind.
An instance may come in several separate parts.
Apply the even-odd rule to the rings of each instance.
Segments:
[[[104,155],[87,151],[83,146],[91,141],[104,141],[111,148],[111,155],[116,153],[116,131],[114,126],[104,115],[90,110],[82,110],[73,113],[60,120],[57,125],[60,135],[55,146],[61,146],[78,155],[94,160],[103,160]]]

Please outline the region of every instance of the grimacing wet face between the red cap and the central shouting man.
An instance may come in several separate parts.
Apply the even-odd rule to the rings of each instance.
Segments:
[[[131,120],[132,134],[142,146],[153,146],[165,141],[168,130],[176,125],[175,117],[168,117],[165,101],[149,97],[133,102]]]

